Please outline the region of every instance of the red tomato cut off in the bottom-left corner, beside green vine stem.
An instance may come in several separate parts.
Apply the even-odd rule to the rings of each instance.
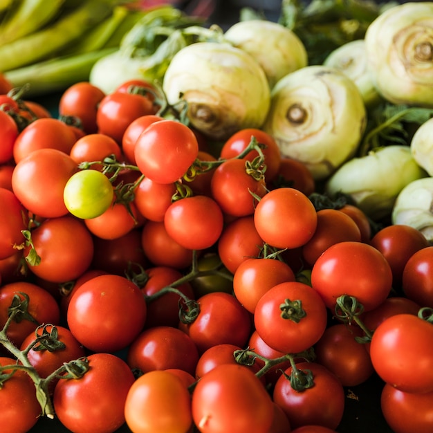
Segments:
[[[15,365],[16,360],[1,357],[0,365]],[[10,374],[3,370],[1,374]],[[1,431],[3,433],[26,433],[37,423],[41,406],[36,398],[35,385],[25,371],[15,371],[1,386]]]

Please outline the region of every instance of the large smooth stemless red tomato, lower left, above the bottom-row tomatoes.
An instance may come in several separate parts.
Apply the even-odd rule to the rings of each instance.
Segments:
[[[87,349],[114,352],[125,349],[142,331],[146,310],[136,284],[120,275],[100,275],[75,291],[68,327]]]

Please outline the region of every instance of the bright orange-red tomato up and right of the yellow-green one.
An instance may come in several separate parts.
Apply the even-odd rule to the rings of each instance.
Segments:
[[[145,176],[159,183],[182,178],[199,153],[192,130],[176,120],[153,122],[136,140],[136,165]]]

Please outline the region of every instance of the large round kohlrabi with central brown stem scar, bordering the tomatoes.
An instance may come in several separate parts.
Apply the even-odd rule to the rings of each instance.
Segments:
[[[353,80],[317,65],[275,84],[263,128],[283,156],[300,160],[322,180],[355,154],[365,127],[365,104]]]

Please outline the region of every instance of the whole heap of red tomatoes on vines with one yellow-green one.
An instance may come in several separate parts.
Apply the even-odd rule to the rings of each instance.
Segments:
[[[264,131],[208,140],[146,82],[77,83],[59,118],[2,85],[3,432],[329,433],[374,374],[394,432],[433,430],[421,232],[326,200]]]

